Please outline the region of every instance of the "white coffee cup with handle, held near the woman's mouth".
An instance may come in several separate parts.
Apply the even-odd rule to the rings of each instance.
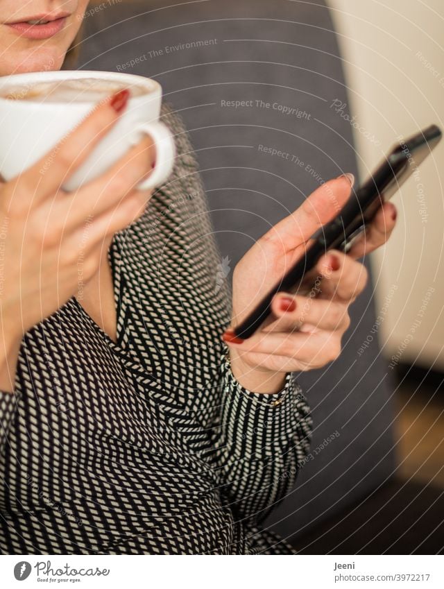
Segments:
[[[87,161],[63,184],[74,191],[101,176],[144,134],[155,146],[155,167],[139,186],[152,190],[164,183],[173,170],[176,147],[169,128],[159,122],[162,87],[151,78],[110,71],[39,71],[0,78],[0,93],[8,87],[28,87],[46,82],[99,78],[127,87],[137,85],[146,94],[133,96],[114,127],[94,148]],[[0,175],[12,180],[35,164],[62,140],[94,108],[94,101],[31,101],[0,96]],[[49,158],[50,160],[50,158]],[[47,165],[50,165],[50,161]],[[42,173],[45,170],[42,170]]]

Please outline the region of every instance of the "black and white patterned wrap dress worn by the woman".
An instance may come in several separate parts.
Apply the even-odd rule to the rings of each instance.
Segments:
[[[26,333],[0,393],[4,554],[289,554],[260,528],[311,436],[293,375],[246,391],[230,293],[182,120],[173,175],[109,251],[117,343],[71,298]],[[222,275],[222,278],[221,278]]]

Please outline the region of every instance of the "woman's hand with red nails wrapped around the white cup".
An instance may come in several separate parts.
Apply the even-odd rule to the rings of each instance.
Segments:
[[[84,283],[92,278],[103,245],[137,219],[151,197],[136,188],[153,168],[148,137],[96,180],[72,193],[62,190],[127,100],[126,91],[110,96],[33,167],[0,184],[1,390],[13,388],[11,364],[23,334],[77,293],[79,276]]]

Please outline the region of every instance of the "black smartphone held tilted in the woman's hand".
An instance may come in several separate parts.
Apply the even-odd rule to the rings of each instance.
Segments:
[[[365,230],[379,207],[395,194],[416,172],[418,165],[438,144],[441,130],[431,125],[409,139],[400,139],[373,174],[352,194],[336,219],[323,225],[311,236],[312,244],[305,256],[294,264],[259,302],[259,305],[234,329],[240,339],[252,336],[271,312],[271,301],[280,291],[305,294],[316,286],[316,262],[327,250],[347,252],[352,241]]]

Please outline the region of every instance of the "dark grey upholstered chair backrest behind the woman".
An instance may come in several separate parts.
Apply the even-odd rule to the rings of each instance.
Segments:
[[[356,173],[352,128],[341,116],[348,112],[341,58],[321,1],[171,4],[104,4],[88,15],[81,67],[162,84],[189,128],[216,238],[234,268],[323,180]],[[352,307],[341,358],[300,375],[314,416],[313,459],[273,515],[285,536],[303,533],[393,470],[391,390],[376,339],[358,352],[375,322],[371,295],[369,284]]]

